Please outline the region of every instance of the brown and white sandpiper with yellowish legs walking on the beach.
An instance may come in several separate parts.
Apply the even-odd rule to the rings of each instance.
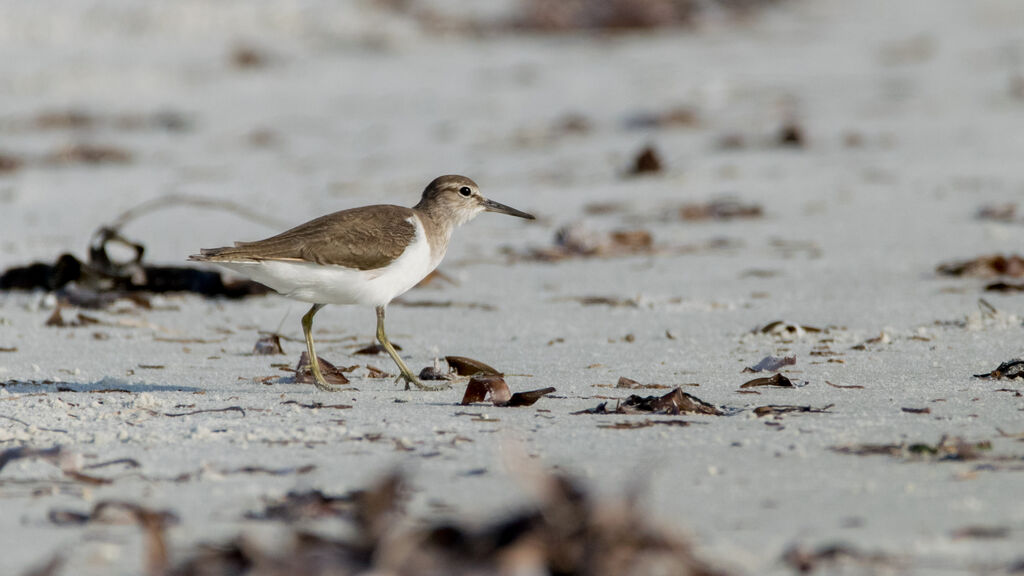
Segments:
[[[384,330],[388,303],[437,268],[455,229],[481,212],[528,220],[532,214],[488,200],[472,179],[457,174],[434,178],[412,208],[390,204],[333,212],[276,236],[234,246],[204,248],[189,260],[212,262],[312,304],[302,317],[309,367],[317,388],[336,392],[321,370],[313,344],[313,317],[328,304],[373,306],[377,340],[397,365],[398,379],[424,384],[395,352]]]

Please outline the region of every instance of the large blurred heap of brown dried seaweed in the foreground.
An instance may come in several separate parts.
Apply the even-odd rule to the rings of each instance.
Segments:
[[[635,497],[598,499],[565,476],[542,476],[535,484],[537,504],[482,525],[458,519],[411,521],[404,512],[409,488],[397,474],[339,497],[294,494],[285,499],[284,508],[271,504],[263,516],[289,523],[338,518],[352,528],[316,534],[297,530],[272,546],[245,536],[200,545],[161,574],[227,576],[242,573],[240,567],[247,574],[267,576],[726,574],[696,557],[687,540],[651,522]]]

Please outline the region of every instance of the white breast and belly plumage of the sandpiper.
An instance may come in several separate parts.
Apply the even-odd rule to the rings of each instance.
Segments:
[[[216,263],[296,300],[382,306],[416,286],[440,263],[440,258],[431,258],[419,218],[412,216],[409,221],[416,227],[416,237],[400,256],[382,269],[355,270],[297,260]]]

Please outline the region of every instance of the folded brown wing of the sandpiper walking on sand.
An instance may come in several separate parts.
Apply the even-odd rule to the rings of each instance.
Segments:
[[[204,249],[190,259],[303,260],[358,270],[388,265],[416,238],[415,215],[402,206],[364,206],[342,210],[278,236],[257,242],[237,242],[233,247]]]

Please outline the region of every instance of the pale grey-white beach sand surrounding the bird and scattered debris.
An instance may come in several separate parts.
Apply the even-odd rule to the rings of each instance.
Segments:
[[[304,488],[341,493],[394,466],[413,475],[414,516],[490,518],[528,497],[509,471],[523,453],[584,477],[602,494],[642,482],[652,517],[692,534],[706,558],[740,573],[786,574],[779,560],[786,548],[834,542],[896,554],[907,574],[973,574],[1022,560],[1024,445],[997,429],[1024,433],[1024,400],[996,390],[1024,386],[971,375],[1024,355],[1024,303],[983,293],[984,281],[934,275],[950,259],[1021,250],[1019,222],[975,218],[980,206],[1019,202],[1024,191],[1024,99],[1011,90],[1024,75],[1019,3],[797,2],[741,25],[595,39],[437,39],[413,22],[332,2],[47,4],[0,6],[0,152],[41,157],[91,141],[124,148],[134,161],[31,164],[0,176],[0,266],[51,261],[63,251],[84,257],[97,225],[167,194],[245,202],[288,225],[360,204],[412,205],[433,176],[465,173],[484,194],[541,219],[479,217],[457,233],[441,264],[459,285],[406,296],[487,302],[496,311],[392,305],[389,332],[414,369],[462,355],[514,374],[514,390],[551,385],[557,393],[531,408],[466,409],[457,406],[461,388],[402,392],[389,379],[358,379],[357,389],[337,395],[263,383],[284,374],[272,364],[294,365],[302,349],[296,340],[285,342],[287,357],[250,354],[258,330],[281,326],[301,337],[305,306],[276,296],[158,298],[152,311],[88,312],[103,324],[57,329],[43,326],[51,310],[41,294],[4,294],[0,346],[17,352],[0,353],[0,380],[131,394],[0,387],[0,415],[31,424],[0,420],[0,450],[61,445],[85,465],[134,458],[140,467],[83,470],[116,479],[91,487],[43,461],[8,464],[0,471],[0,573],[23,573],[58,550],[71,559],[66,574],[138,573],[137,528],[55,527],[47,519],[53,509],[88,511],[111,498],[180,515],[170,531],[175,560],[197,542],[265,531],[243,519],[264,497]],[[237,42],[265,50],[269,65],[231,68]],[[638,113],[680,105],[697,112],[696,127],[626,127]],[[38,113],[68,109],[173,111],[191,129],[26,125]],[[593,129],[549,137],[569,113]],[[805,130],[806,148],[766,143],[787,118]],[[256,130],[272,133],[272,143],[249,143]],[[717,142],[726,134],[741,134],[748,146],[722,150]],[[851,134],[861,146],[845,143]],[[622,177],[647,142],[667,171]],[[762,204],[765,217],[662,217],[682,202],[722,194]],[[627,213],[585,214],[585,205],[606,201],[625,203]],[[503,248],[549,246],[569,221],[643,228],[669,247],[732,245],[507,265]],[[200,247],[274,231],[181,208],[125,232],[146,245],[152,261],[179,263]],[[570,299],[591,295],[639,305]],[[999,314],[983,316],[979,297]],[[792,342],[750,333],[780,319],[834,328]],[[384,356],[350,356],[353,344],[373,337],[371,311],[329,307],[316,327],[318,349],[335,364],[394,370]],[[851,349],[882,333],[888,341]],[[627,334],[635,341],[624,341]],[[556,338],[564,341],[549,344]],[[838,356],[810,354],[829,339]],[[782,354],[797,356],[786,373],[807,385],[737,393],[752,377],[742,367]],[[781,426],[749,410],[633,430],[598,424],[643,416],[570,415],[603,402],[599,396],[627,396],[599,387],[618,376],[697,382],[685,389],[732,408],[835,406],[786,416]],[[283,404],[290,400],[353,408]],[[162,415],[228,406],[245,415]],[[943,435],[991,441],[992,450],[981,464],[829,450],[935,444]],[[1006,460],[984,464],[996,457]],[[231,471],[306,464],[315,468]],[[479,468],[486,472],[467,475]],[[187,480],[174,482],[180,475]],[[954,538],[970,526],[1010,532]]]

